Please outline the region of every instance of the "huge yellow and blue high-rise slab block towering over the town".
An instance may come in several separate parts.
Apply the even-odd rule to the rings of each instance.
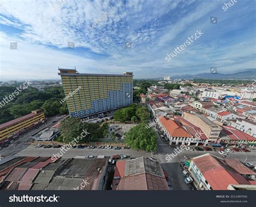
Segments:
[[[72,117],[85,117],[132,103],[132,73],[80,74],[60,69],[65,99]]]

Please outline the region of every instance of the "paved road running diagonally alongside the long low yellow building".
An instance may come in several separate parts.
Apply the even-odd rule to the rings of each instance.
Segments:
[[[60,120],[63,119],[60,116],[53,116],[47,119],[47,123],[46,126],[52,126],[53,120]],[[9,155],[15,155],[17,153],[19,153],[20,151],[22,151],[23,149],[25,149],[26,147],[28,147],[27,145],[24,145],[24,142],[28,141],[31,137],[31,135],[35,134],[36,132],[44,129],[45,124],[41,124],[39,126],[38,129],[31,129],[30,131],[26,132],[25,134],[22,134],[21,137],[19,137],[13,144],[9,145],[8,147],[3,148],[2,150],[0,150],[0,154],[5,157],[5,156],[9,156]]]

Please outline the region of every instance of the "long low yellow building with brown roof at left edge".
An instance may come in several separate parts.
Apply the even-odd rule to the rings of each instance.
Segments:
[[[0,124],[0,141],[15,137],[19,133],[39,124],[44,119],[44,112],[35,110],[28,115]]]

